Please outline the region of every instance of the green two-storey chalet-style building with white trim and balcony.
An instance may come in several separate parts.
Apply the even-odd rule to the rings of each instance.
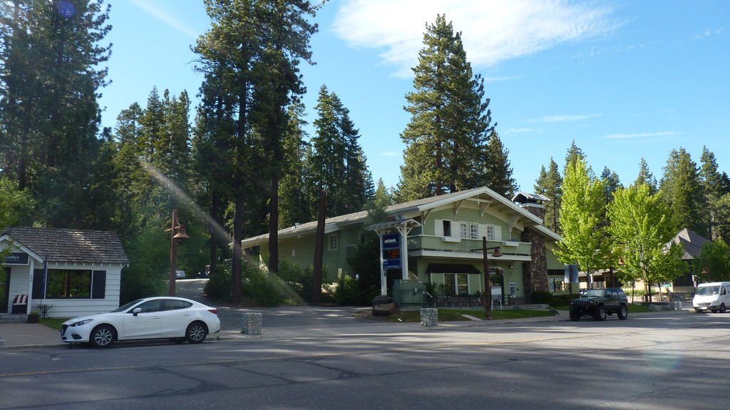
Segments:
[[[365,225],[364,211],[327,218],[323,266],[328,276],[323,279],[335,281],[353,274],[347,257],[361,244],[366,230],[373,230],[400,233],[405,239],[401,255],[407,258],[401,258],[401,266],[407,267],[407,273],[401,274],[403,269],[398,268],[388,271],[389,276],[431,282],[437,285],[439,296],[482,294],[485,237],[491,275],[497,272],[504,277],[504,289],[496,284],[493,294],[503,292],[512,304],[529,302],[534,290],[562,290],[564,265],[553,255],[561,237],[542,224],[542,201],[547,200],[518,193],[510,201],[488,187],[479,187],[388,206],[388,219],[377,225]],[[280,230],[280,259],[311,266],[316,231],[316,221]],[[268,258],[268,246],[268,233],[242,241],[242,248],[258,254],[261,261]],[[496,247],[499,257],[493,256]]]

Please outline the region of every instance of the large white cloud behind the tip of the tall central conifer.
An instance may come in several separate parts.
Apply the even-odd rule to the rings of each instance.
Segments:
[[[410,77],[426,23],[439,13],[463,33],[472,65],[494,66],[563,42],[610,34],[620,26],[612,12],[602,1],[346,0],[333,28],[353,47],[384,49],[380,57],[396,66],[395,74]]]

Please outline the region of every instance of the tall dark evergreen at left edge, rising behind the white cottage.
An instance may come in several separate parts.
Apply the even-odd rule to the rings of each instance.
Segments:
[[[99,175],[98,90],[110,47],[102,0],[4,2],[0,21],[0,163],[30,187],[50,226],[94,228],[110,215],[96,209]],[[7,12],[7,14],[6,14]]]

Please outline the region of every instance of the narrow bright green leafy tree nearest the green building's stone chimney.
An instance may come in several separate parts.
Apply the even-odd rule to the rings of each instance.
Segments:
[[[609,244],[601,228],[605,209],[604,182],[591,179],[580,156],[566,168],[560,206],[563,240],[556,256],[562,263],[577,263],[586,274],[604,268]]]

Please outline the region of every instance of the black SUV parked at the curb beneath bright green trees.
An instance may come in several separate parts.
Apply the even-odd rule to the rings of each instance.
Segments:
[[[580,298],[570,301],[570,320],[577,322],[584,314],[595,320],[606,320],[608,314],[617,314],[619,319],[629,316],[629,299],[621,287],[589,289]]]

